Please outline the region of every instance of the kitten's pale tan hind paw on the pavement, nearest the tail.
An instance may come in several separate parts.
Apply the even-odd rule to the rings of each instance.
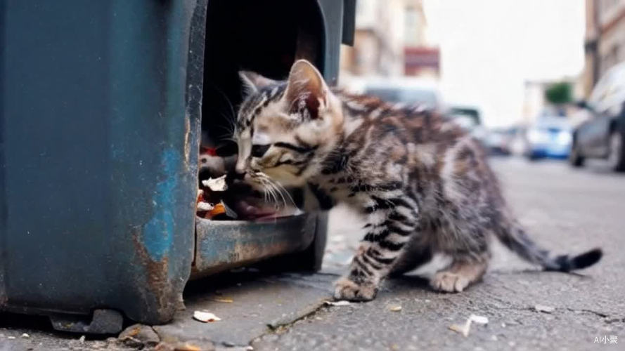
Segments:
[[[488,258],[456,259],[451,266],[437,272],[430,280],[430,286],[438,291],[459,293],[469,284],[477,282],[488,267]]]

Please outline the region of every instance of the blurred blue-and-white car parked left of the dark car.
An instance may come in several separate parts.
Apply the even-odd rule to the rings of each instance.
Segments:
[[[526,140],[525,156],[531,161],[566,159],[571,150],[571,125],[565,116],[547,114],[527,128]]]

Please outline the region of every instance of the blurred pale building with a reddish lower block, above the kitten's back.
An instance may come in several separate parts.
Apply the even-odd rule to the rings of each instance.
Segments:
[[[358,0],[354,46],[344,47],[343,75],[438,77],[439,50],[427,44],[422,0]]]

